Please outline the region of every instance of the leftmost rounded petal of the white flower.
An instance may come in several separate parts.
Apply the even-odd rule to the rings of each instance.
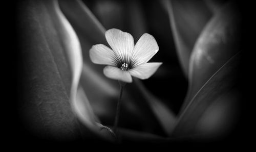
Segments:
[[[115,65],[115,53],[103,44],[92,46],[90,49],[90,58],[96,64]]]

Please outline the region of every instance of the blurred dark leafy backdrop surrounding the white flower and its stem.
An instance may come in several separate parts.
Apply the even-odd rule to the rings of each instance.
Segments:
[[[123,143],[230,143],[242,135],[241,6],[236,1],[18,1],[17,138],[112,143],[119,84],[89,49],[117,28],[153,35],[163,62],[122,96]],[[96,123],[97,122],[97,123]]]

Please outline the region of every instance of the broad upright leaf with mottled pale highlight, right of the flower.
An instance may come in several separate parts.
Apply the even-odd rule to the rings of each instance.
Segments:
[[[189,87],[181,113],[211,75],[240,51],[240,28],[240,14],[233,3],[226,4],[207,23],[191,54]]]

